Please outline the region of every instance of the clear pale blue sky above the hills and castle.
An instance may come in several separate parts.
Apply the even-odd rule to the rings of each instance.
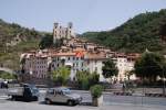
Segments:
[[[73,22],[75,33],[105,31],[147,11],[166,9],[166,0],[0,0],[0,19],[38,31]]]

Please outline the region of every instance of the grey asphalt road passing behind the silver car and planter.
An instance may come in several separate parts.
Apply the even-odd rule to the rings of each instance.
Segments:
[[[0,89],[0,102],[9,101],[8,97],[4,95],[6,90]],[[82,106],[89,105],[92,102],[90,92],[84,92],[80,90],[74,90],[73,92],[80,94],[83,97]],[[45,90],[40,90],[40,97],[38,102],[41,103],[44,101]],[[136,96],[114,96],[113,94],[103,94],[104,106],[114,106],[114,105],[126,105],[126,106],[165,106],[166,98],[153,98],[153,97],[136,97]]]

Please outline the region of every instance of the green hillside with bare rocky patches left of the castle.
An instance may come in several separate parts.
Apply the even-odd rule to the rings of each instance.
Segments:
[[[44,33],[0,20],[0,66],[19,68],[22,52],[35,50]]]

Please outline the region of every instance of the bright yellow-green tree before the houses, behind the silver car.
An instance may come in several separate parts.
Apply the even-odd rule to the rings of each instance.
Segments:
[[[62,66],[52,73],[52,79],[59,81],[62,86],[65,86],[70,78],[70,68]]]

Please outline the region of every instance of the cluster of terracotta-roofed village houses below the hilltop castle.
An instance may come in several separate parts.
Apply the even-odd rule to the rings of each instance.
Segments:
[[[60,38],[60,37],[56,37]],[[124,54],[112,52],[108,48],[89,43],[85,40],[69,38],[66,44],[56,50],[48,50],[33,53],[24,53],[25,62],[22,64],[25,74],[40,79],[48,77],[49,70],[53,72],[61,66],[68,66],[71,68],[70,79],[75,80],[75,75],[79,70],[89,70],[90,73],[97,73],[100,75],[100,81],[105,81],[103,77],[102,67],[103,62],[106,59],[113,59],[118,68],[117,77],[114,79],[123,81],[128,79],[127,72],[134,69],[134,64],[138,54]],[[135,76],[131,76],[131,79],[135,79]]]

